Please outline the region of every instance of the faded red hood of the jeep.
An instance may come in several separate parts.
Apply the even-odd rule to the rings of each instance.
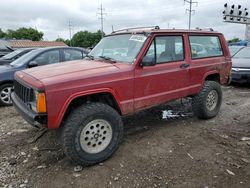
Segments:
[[[24,73],[29,74],[36,80],[46,82],[48,80],[67,81],[78,78],[84,79],[117,70],[119,68],[109,62],[77,60],[26,69]]]

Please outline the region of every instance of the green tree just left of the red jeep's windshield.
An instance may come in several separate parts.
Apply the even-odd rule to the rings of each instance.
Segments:
[[[101,31],[89,32],[79,31],[71,39],[72,46],[78,46],[83,48],[95,46],[102,38]]]

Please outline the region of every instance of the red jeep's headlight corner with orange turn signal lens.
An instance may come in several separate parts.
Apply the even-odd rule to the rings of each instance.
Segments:
[[[34,90],[34,100],[30,103],[31,109],[37,113],[46,113],[46,96],[43,92]]]

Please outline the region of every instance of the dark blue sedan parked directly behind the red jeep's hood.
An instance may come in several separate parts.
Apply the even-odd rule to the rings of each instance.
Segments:
[[[26,68],[83,59],[87,51],[76,47],[50,47],[32,50],[9,65],[0,65],[0,106],[12,105],[14,73]],[[48,70],[50,71],[50,70]]]

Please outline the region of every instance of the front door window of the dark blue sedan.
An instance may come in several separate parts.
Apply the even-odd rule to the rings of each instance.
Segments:
[[[40,65],[47,65],[60,62],[59,50],[52,50],[38,55],[34,61]]]

